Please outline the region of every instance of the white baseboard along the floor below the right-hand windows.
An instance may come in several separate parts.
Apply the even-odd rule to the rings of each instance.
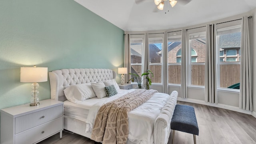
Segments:
[[[209,102],[204,102],[203,100],[194,100],[194,99],[189,99],[189,98],[179,98],[178,97],[177,100],[182,101],[182,102],[192,102],[192,103],[196,103],[196,104],[204,104],[204,105],[207,105],[207,106],[214,106],[214,107],[217,107],[217,108],[224,108],[226,110],[232,110],[232,111],[235,111],[235,112],[250,114],[250,115],[252,115],[256,118],[256,112],[251,112],[251,111],[248,111],[248,110],[241,110],[240,108],[235,107],[235,106],[228,106],[228,105],[225,105],[225,104],[212,104],[212,103],[209,103]]]

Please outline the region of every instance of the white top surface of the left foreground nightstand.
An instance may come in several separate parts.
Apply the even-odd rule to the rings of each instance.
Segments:
[[[37,112],[40,110],[45,109],[46,107],[52,107],[52,106],[58,106],[63,104],[63,102],[57,101],[57,100],[41,100],[39,101],[40,104],[38,106],[29,106],[28,104],[22,104],[19,106],[13,106],[10,108],[4,108],[1,110],[1,112],[5,112],[6,114],[13,116],[13,117],[18,117],[20,115],[24,115],[24,113],[32,113],[32,112]]]

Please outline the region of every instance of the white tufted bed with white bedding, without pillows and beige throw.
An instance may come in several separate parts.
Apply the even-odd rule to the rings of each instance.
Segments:
[[[115,82],[116,72],[110,69],[74,68],[49,72],[51,99],[64,102],[64,129],[87,138],[92,136],[92,128],[99,108],[108,102],[135,89],[121,90]],[[114,83],[116,95],[92,97],[73,102],[68,96],[68,88],[95,83]],[[111,83],[112,82],[112,83]],[[65,93],[64,93],[65,91]],[[94,91],[95,92],[95,91]],[[66,95],[66,96],[65,96]],[[170,121],[176,105],[178,93],[155,92],[152,97],[128,114],[129,134],[127,144],[167,144],[170,136]],[[67,98],[69,100],[67,100]]]

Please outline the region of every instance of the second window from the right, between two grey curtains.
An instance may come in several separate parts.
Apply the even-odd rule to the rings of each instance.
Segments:
[[[189,85],[204,86],[206,32],[189,34]]]

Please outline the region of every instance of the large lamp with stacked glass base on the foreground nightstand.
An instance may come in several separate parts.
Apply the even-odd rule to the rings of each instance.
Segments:
[[[32,82],[30,106],[38,106],[38,88],[39,84],[37,82],[47,82],[48,79],[48,68],[43,67],[21,67],[20,68],[20,82]]]

